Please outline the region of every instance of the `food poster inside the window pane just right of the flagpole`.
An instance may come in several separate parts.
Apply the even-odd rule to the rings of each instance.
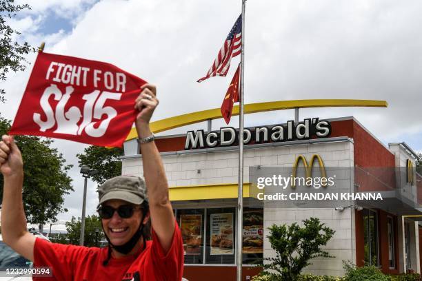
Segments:
[[[243,211],[243,253],[263,253],[263,210]]]

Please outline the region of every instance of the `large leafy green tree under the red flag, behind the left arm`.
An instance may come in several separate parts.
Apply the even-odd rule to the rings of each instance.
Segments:
[[[10,130],[10,121],[0,116],[0,135]],[[45,224],[55,221],[57,214],[68,211],[63,207],[65,194],[74,191],[72,179],[67,175],[72,165],[52,141],[38,136],[16,136],[15,140],[23,158],[23,208],[28,222]],[[0,200],[3,200],[3,176],[0,174]]]

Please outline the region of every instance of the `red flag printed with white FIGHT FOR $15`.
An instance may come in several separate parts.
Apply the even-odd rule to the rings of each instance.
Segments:
[[[145,83],[110,63],[39,52],[10,134],[121,147]]]

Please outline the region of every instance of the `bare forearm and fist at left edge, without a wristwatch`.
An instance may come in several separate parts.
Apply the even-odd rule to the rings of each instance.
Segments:
[[[23,162],[12,136],[2,136],[0,142],[0,172],[3,174],[1,203],[1,236],[14,251],[34,261],[35,236],[26,229],[23,211]]]

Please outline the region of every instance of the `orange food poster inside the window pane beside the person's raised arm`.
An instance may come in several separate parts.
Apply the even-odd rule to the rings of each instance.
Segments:
[[[202,215],[181,215],[180,230],[183,239],[185,255],[201,254]]]

